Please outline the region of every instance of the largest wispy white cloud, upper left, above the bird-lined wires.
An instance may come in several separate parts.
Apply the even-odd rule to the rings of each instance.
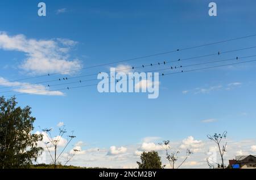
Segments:
[[[71,74],[70,70],[81,68],[79,60],[68,60],[68,52],[74,44],[75,41],[67,39],[36,40],[24,35],[9,36],[0,32],[0,49],[25,53],[27,58],[19,68],[30,74]]]

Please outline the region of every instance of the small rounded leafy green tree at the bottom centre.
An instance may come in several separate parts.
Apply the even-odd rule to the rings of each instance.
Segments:
[[[163,169],[161,158],[158,152],[143,152],[141,154],[141,162],[137,162],[139,169]]]

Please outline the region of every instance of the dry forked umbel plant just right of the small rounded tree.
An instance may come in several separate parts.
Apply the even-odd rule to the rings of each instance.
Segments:
[[[178,160],[177,155],[180,153],[180,151],[169,152],[170,149],[171,149],[169,144],[170,144],[170,140],[164,140],[163,143],[159,143],[159,145],[163,145],[164,150],[166,151],[166,159],[170,163],[171,168],[174,169],[175,168],[175,162]],[[188,159],[188,157],[191,154],[193,154],[193,152],[190,151],[189,149],[187,149],[186,156],[185,156],[184,160],[181,162],[181,164],[179,164],[177,166],[177,169],[180,168],[180,166],[184,164],[184,162]]]

